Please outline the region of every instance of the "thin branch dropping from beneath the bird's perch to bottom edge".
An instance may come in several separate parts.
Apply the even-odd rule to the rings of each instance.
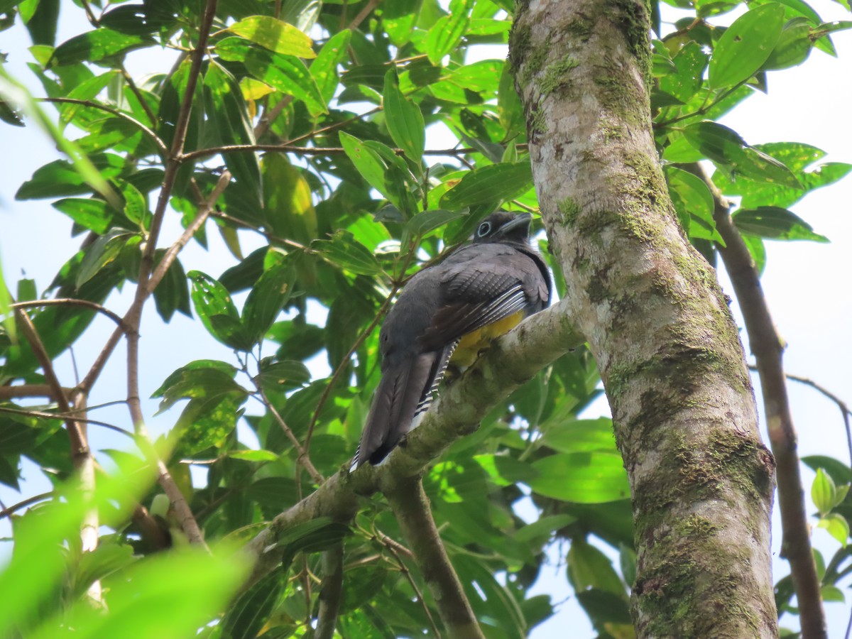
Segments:
[[[400,531],[412,548],[423,579],[432,591],[447,634],[459,639],[485,639],[464,594],[462,582],[440,540],[429,498],[423,492],[423,482],[419,477],[397,481],[394,490],[385,492],[385,495],[400,524]]]

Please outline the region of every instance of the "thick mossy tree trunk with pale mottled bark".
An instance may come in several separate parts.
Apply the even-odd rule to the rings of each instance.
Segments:
[[[648,32],[640,0],[519,3],[533,176],[630,475],[637,635],[777,636],[774,462],[728,302],[659,167]]]

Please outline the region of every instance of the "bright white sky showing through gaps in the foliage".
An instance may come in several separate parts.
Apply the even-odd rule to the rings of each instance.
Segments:
[[[813,0],[811,5],[824,20],[852,20],[838,3],[831,0]],[[80,20],[81,12],[72,11],[63,3],[66,13],[62,14],[58,40],[88,30]],[[676,12],[671,9],[664,17],[671,20]],[[852,127],[849,126],[849,105],[852,104],[852,32],[840,32],[834,37],[838,59],[815,51],[810,59],[797,68],[769,74],[769,95],[757,94],[744,102],[726,118],[722,119],[742,134],[750,144],[769,141],[801,141],[820,147],[828,153],[824,161],[852,162]],[[40,87],[26,68],[31,61],[26,52],[29,46],[26,32],[16,26],[3,32],[3,53],[9,53],[7,66],[16,78],[24,80],[36,93]],[[488,51],[485,57],[501,57]],[[130,69],[135,74],[163,70],[170,66],[170,56],[158,59],[146,51],[132,58]],[[428,147],[442,147],[440,141]],[[17,202],[14,193],[21,182],[32,176],[34,170],[60,157],[53,145],[37,130],[19,129],[0,125],[0,258],[7,282],[12,286],[22,274],[36,279],[37,289],[43,291],[54,274],[72,255],[78,239],[70,239],[71,223],[60,216],[49,204],[49,200]],[[832,240],[830,245],[813,243],[769,242],[769,262],[763,275],[763,288],[769,300],[774,321],[786,339],[786,370],[800,376],[810,377],[826,388],[852,403],[852,340],[849,339],[852,317],[852,179],[847,178],[838,185],[812,193],[792,207],[798,216],[814,227],[817,233]],[[176,216],[167,216],[164,224],[164,244],[170,243],[181,233]],[[210,250],[204,251],[191,245],[183,258],[188,268],[197,268],[218,275],[231,266],[233,257],[227,252],[213,229],[208,226]],[[256,246],[256,240],[241,233],[245,252]],[[722,285],[733,296],[728,279],[720,273]],[[107,306],[122,313],[130,305],[132,291],[113,294]],[[236,300],[238,306],[242,299]],[[739,317],[739,309],[735,308]],[[742,325],[740,319],[740,325]],[[99,318],[82,338],[76,350],[78,366],[87,370],[103,341],[112,331],[109,320]],[[143,396],[156,389],[170,371],[197,359],[231,360],[232,354],[216,343],[197,323],[180,314],[165,329],[160,326],[153,303],[147,305],[142,323],[141,389]],[[745,334],[743,334],[745,339]],[[748,344],[746,343],[746,352]],[[321,362],[313,367],[314,377],[327,374]],[[74,380],[71,358],[60,359],[58,374],[68,386]],[[122,399],[124,388],[124,352],[121,348],[113,355],[111,363],[101,377],[90,399],[90,404]],[[757,389],[757,396],[760,393]],[[814,390],[796,383],[790,385],[793,417],[799,432],[800,453],[827,454],[849,463],[846,439],[843,434],[837,406]],[[148,401],[143,409],[149,418],[154,433],[170,428],[177,416],[172,411],[161,417],[153,417],[156,402]],[[596,414],[606,412],[606,406],[595,406]],[[763,406],[760,406],[761,412]],[[591,415],[590,415],[591,416]],[[123,406],[98,411],[93,418],[117,423],[127,427],[129,419]],[[241,435],[244,435],[241,431]],[[766,440],[765,431],[763,435]],[[126,448],[128,442],[119,435],[98,430],[93,433],[95,446]],[[24,469],[26,486],[24,496],[49,490],[47,481],[32,464]],[[805,491],[809,493],[813,473],[803,470]],[[20,501],[21,496],[5,487],[0,487],[0,499],[5,504]],[[809,512],[815,509],[809,507]],[[0,522],[0,535],[8,535],[6,521]],[[786,574],[786,562],[777,559],[780,549],[780,522],[777,508],[774,512],[773,553],[776,558],[776,579]],[[826,561],[838,550],[838,543],[828,534],[817,529],[814,533],[815,546],[826,557]],[[0,547],[0,557],[8,556],[9,549]],[[556,553],[553,553],[556,562]],[[617,565],[617,563],[616,563]],[[570,593],[565,579],[564,566],[545,568],[539,580],[538,592],[548,593],[554,602],[565,600]],[[550,622],[539,626],[532,634],[534,639],[549,637],[594,636],[584,613],[579,611],[571,599],[563,604],[561,612]],[[849,606],[828,604],[829,635],[840,636],[846,627]],[[782,625],[797,627],[797,619],[786,616]],[[571,630],[567,630],[567,629]],[[570,634],[567,634],[570,633]]]

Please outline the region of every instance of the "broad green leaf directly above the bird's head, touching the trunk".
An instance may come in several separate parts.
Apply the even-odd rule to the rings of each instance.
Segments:
[[[488,164],[465,173],[458,184],[444,193],[440,205],[458,210],[474,204],[513,199],[526,193],[532,184],[529,162]]]

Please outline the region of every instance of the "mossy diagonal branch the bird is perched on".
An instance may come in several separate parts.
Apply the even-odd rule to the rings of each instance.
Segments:
[[[358,511],[358,496],[387,490],[416,477],[453,441],[469,435],[482,417],[521,384],[562,354],[585,342],[569,317],[567,302],[521,322],[500,337],[464,374],[443,389],[423,418],[379,467],[369,464],[353,474],[348,463],[316,491],[285,510],[246,546],[255,560],[248,584],[255,583],[281,562],[279,539],[291,527],[327,516],[349,521]]]

